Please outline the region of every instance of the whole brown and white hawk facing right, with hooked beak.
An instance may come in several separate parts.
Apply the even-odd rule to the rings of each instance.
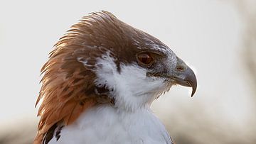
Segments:
[[[160,40],[107,11],[90,13],[54,45],[41,72],[34,144],[171,144],[150,106],[196,76]]]

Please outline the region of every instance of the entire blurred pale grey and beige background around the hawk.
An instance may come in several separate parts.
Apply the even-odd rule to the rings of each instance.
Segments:
[[[256,143],[256,1],[1,1],[0,144],[32,143],[48,52],[69,27],[107,10],[176,52],[198,91],[172,87],[152,106],[177,144]]]

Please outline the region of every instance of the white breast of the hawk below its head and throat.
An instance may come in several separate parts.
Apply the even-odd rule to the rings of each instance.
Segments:
[[[171,144],[163,124],[150,109],[119,111],[110,105],[93,107],[53,136],[50,144]]]

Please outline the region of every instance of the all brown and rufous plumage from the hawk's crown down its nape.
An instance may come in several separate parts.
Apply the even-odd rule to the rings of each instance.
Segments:
[[[41,101],[38,116],[38,133],[34,144],[39,144],[43,136],[56,123],[69,125],[80,113],[91,106],[101,103],[114,104],[105,94],[95,93],[96,57],[101,57],[107,50],[117,64],[135,62],[137,48],[146,48],[146,38],[151,43],[160,43],[151,35],[128,26],[119,21],[112,13],[101,11],[85,16],[79,23],[63,35],[49,53],[49,60],[43,65],[41,73],[41,90],[36,105]],[[133,40],[136,40],[134,43]],[[139,43],[139,46],[138,46]],[[114,55],[118,53],[118,55]],[[122,58],[119,58],[122,57]],[[80,59],[81,58],[81,59]],[[83,65],[80,60],[86,60]],[[100,88],[107,92],[105,87]]]

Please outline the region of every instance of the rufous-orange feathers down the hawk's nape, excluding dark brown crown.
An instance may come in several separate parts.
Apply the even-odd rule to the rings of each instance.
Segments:
[[[48,62],[41,69],[42,87],[36,105],[41,99],[43,101],[38,110],[41,119],[34,144],[42,143],[44,135],[55,123],[69,125],[80,113],[102,102],[102,96],[97,96],[94,92],[95,73],[92,72],[94,58],[102,55],[102,49],[94,48],[95,45],[100,46],[100,43],[92,38],[92,34],[96,32],[91,26],[103,15],[112,17],[112,14],[108,14],[110,13],[102,11],[82,18],[82,21],[73,25],[60,38],[54,45],[55,49],[50,52]],[[78,57],[91,57],[88,63],[92,67],[82,65],[82,62],[78,62]]]

